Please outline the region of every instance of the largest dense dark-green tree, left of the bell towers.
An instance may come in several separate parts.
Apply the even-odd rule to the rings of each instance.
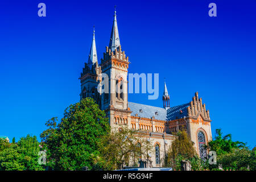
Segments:
[[[56,170],[101,168],[103,137],[110,132],[109,119],[92,98],[69,106],[57,125],[57,118],[47,121],[48,129],[40,135],[47,151],[47,166]]]

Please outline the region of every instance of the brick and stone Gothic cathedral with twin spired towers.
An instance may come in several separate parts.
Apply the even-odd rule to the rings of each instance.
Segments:
[[[111,92],[116,88],[127,90],[129,63],[129,57],[121,49],[115,11],[109,46],[106,47],[100,64],[93,30],[88,62],[85,63],[80,76],[80,99],[92,97],[100,109],[105,110],[111,127],[127,126],[138,130],[143,137],[150,139],[154,145],[154,154],[150,154],[152,167],[162,167],[162,159],[176,138],[174,134],[179,130],[187,131],[197,154],[201,158],[206,158],[208,151],[203,146],[212,140],[211,120],[209,110],[203,104],[199,93],[196,92],[192,100],[185,104],[171,106],[166,82],[164,82],[163,107],[129,102],[127,92]],[[102,81],[100,78],[102,73],[108,75],[109,92],[99,93],[97,90],[98,84]],[[119,77],[120,74],[126,79]]]

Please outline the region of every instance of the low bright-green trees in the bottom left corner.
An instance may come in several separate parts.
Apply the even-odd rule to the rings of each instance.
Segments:
[[[11,143],[0,151],[0,169],[6,171],[44,170],[38,164],[39,142],[36,137],[20,138],[17,144]]]

